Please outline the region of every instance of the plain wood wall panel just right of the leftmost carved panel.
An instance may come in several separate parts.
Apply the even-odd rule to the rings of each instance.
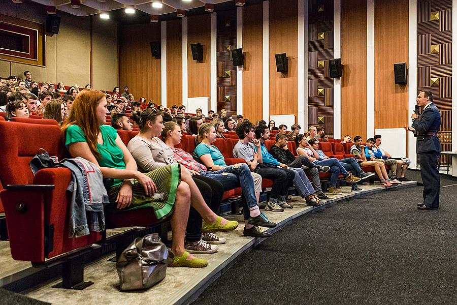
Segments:
[[[255,122],[263,118],[263,7],[243,7],[243,116]]]

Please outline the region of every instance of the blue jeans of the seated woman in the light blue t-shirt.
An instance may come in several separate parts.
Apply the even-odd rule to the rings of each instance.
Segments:
[[[254,180],[246,163],[243,163],[238,168],[234,168],[231,165],[218,171],[201,172],[200,174],[219,181],[224,186],[224,191],[241,187],[243,193],[243,215],[245,220],[249,219],[250,208],[258,204],[255,197]]]

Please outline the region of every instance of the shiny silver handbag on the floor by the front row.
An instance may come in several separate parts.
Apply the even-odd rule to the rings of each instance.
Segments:
[[[174,257],[157,233],[135,238],[116,263],[119,289],[128,291],[154,286],[165,278],[167,265]]]

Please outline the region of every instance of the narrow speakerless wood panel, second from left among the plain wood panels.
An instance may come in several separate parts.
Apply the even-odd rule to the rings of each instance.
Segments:
[[[167,21],[167,105],[182,105],[182,19]]]

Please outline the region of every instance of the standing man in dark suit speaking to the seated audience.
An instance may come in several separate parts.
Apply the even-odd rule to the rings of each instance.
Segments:
[[[420,176],[423,182],[423,203],[418,203],[421,210],[438,209],[440,201],[440,174],[437,159],[440,156],[441,146],[437,132],[441,125],[441,115],[433,104],[430,91],[422,91],[416,99],[417,105],[423,107],[422,115],[411,115],[412,128],[417,137],[416,150],[420,160]]]

